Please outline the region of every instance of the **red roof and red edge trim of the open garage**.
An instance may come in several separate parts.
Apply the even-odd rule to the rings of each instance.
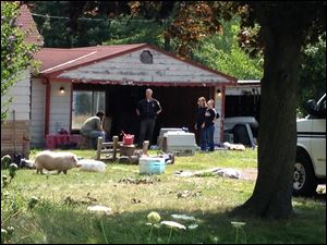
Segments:
[[[120,57],[140,49],[149,48],[158,52],[165,53],[173,59],[186,62],[187,64],[197,66],[202,70],[206,70],[210,73],[223,77],[228,81],[228,84],[237,84],[237,78],[226,75],[216,70],[211,70],[205,65],[196,63],[192,60],[180,59],[173,53],[166,52],[155,46],[148,44],[135,44],[135,45],[113,45],[113,46],[94,46],[84,48],[71,48],[71,49],[58,49],[58,48],[43,48],[35,54],[35,59],[41,62],[40,75],[48,78],[59,78],[59,75],[78,69],[81,66],[86,66],[100,61],[109,60],[116,57]],[[73,81],[77,82],[77,81]],[[93,81],[93,83],[109,83],[108,81]],[[120,81],[110,81],[111,84],[120,84]],[[137,84],[142,84],[141,82]],[[193,83],[195,84],[195,83]],[[161,82],[160,85],[169,85],[169,82]],[[206,84],[199,83],[201,86],[206,86]],[[210,86],[213,83],[210,83]]]

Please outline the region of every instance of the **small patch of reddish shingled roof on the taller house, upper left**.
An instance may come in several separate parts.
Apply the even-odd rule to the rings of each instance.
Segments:
[[[25,41],[27,44],[35,44],[43,46],[44,40],[39,32],[37,30],[36,24],[26,4],[21,5],[20,15],[17,16],[17,24],[21,25],[22,30],[27,33]]]

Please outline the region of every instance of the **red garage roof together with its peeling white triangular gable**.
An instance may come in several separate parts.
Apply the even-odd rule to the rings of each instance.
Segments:
[[[152,64],[141,62],[143,51],[150,51]],[[237,82],[234,77],[146,44],[44,49],[36,57],[46,61],[41,68],[45,76],[74,83],[213,86]]]

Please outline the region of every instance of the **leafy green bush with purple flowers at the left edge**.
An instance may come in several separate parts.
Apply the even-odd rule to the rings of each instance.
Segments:
[[[25,35],[16,20],[19,4],[1,1],[1,97],[16,82],[21,71],[32,64],[34,45],[24,42]],[[7,118],[9,100],[1,99],[1,122]]]

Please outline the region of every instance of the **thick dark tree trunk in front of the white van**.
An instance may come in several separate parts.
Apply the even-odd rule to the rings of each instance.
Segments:
[[[258,133],[258,176],[234,215],[283,219],[292,215],[296,149],[296,94],[301,41],[287,28],[262,26],[265,45]]]

